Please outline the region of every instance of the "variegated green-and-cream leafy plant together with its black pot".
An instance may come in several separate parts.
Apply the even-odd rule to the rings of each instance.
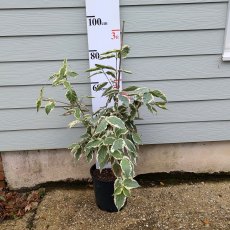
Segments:
[[[95,113],[91,113],[84,104],[84,100],[89,97],[78,95],[75,85],[71,84],[69,79],[76,77],[77,73],[69,70],[67,60],[64,60],[60,70],[50,78],[52,86],[64,87],[67,102],[44,97],[43,88],[37,100],[37,111],[42,101],[45,101],[47,114],[57,103],[63,103],[64,115],[74,117],[69,127],[73,128],[78,124],[85,127],[81,139],[70,149],[77,160],[84,155],[91,162],[95,156],[98,169],[93,166],[91,175],[96,202],[101,209],[107,211],[120,210],[131,195],[131,190],[139,187],[134,179],[134,166],[137,163],[141,137],[134,120],[139,117],[140,108],[146,106],[151,113],[155,113],[157,108],[166,109],[167,103],[165,95],[159,90],[138,86],[120,89],[121,73],[131,73],[122,69],[122,59],[127,57],[129,51],[129,46],[124,45],[119,50],[100,55],[101,59],[115,59],[116,68],[96,64],[95,68],[86,71],[90,73],[90,77],[103,73],[108,78],[108,82],[99,84],[95,89],[102,90],[103,96],[107,98],[106,106]],[[111,168],[105,168],[108,164]]]

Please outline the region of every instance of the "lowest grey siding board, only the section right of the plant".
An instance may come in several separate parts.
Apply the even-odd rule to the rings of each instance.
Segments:
[[[172,123],[139,126],[144,144],[230,140],[230,121]],[[223,132],[224,130],[224,132]]]

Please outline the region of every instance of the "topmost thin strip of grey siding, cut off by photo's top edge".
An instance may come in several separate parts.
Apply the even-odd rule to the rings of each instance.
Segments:
[[[158,4],[181,4],[181,3],[207,3],[227,2],[228,0],[121,0],[121,5],[158,5]],[[53,7],[84,7],[85,0],[1,0],[0,9],[6,8],[53,8]]]

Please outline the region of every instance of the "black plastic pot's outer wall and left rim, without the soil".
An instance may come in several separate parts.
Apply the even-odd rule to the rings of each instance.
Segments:
[[[117,208],[114,204],[113,193],[114,193],[114,181],[104,182],[96,178],[93,172],[96,170],[96,165],[90,168],[90,174],[93,179],[93,187],[96,198],[97,206],[107,212],[117,212]]]

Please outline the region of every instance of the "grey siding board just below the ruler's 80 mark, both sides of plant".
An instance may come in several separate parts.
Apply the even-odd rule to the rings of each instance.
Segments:
[[[60,65],[61,61],[0,63],[0,85],[50,84],[48,77]],[[74,82],[89,82],[84,72],[89,68],[87,60],[69,61],[69,65],[81,76]],[[140,76],[142,81],[230,77],[230,62],[222,62],[221,55],[128,58],[124,68],[133,74],[124,74],[123,81],[140,81]]]

